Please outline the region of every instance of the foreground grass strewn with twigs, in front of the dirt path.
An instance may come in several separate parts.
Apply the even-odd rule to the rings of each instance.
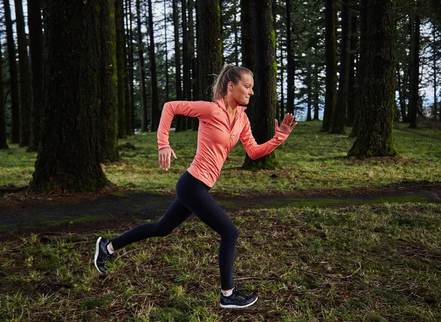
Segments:
[[[265,208],[229,213],[234,274],[259,300],[218,306],[219,237],[189,220],[93,266],[96,234],[0,244],[0,321],[440,321],[441,205]]]

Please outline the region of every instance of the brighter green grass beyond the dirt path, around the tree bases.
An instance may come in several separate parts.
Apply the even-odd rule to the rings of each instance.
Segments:
[[[243,171],[245,149],[240,141],[223,166],[212,192],[231,195],[308,189],[352,189],[402,181],[439,182],[441,178],[441,131],[426,128],[393,131],[399,158],[345,158],[353,138],[320,132],[321,122],[299,122],[289,138],[276,149],[283,169]],[[407,127],[407,125],[398,125]],[[348,129],[349,133],[350,129]],[[419,136],[424,133],[433,138]],[[104,164],[107,178],[119,186],[161,193],[174,192],[179,176],[191,164],[196,151],[197,132],[170,134],[170,144],[178,160],[172,158],[169,171],[158,166],[156,133],[143,133],[119,144],[134,144],[136,149],[121,149],[121,161]],[[27,185],[32,179],[35,153],[12,144],[0,152],[0,185]],[[271,178],[276,174],[277,178]]]

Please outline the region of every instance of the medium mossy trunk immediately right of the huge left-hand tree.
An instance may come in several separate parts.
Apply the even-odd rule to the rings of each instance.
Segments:
[[[99,71],[99,118],[100,162],[119,160],[118,154],[118,96],[116,63],[115,0],[101,0]]]

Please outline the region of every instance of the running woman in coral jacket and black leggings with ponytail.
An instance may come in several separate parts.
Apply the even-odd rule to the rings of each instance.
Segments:
[[[164,237],[182,224],[192,213],[220,235],[220,306],[246,308],[257,301],[237,289],[233,281],[234,251],[238,230],[216,200],[209,193],[220,176],[220,169],[229,151],[240,139],[252,159],[261,158],[284,142],[296,126],[294,116],[286,114],[276,134],[264,144],[256,144],[244,113],[253,93],[253,73],[245,67],[225,65],[213,86],[214,102],[173,101],[165,103],[158,127],[158,163],[163,170],[170,168],[170,159],[176,154],[169,144],[170,125],[176,114],[198,118],[198,144],[190,167],[176,183],[176,199],[157,222],[141,224],[112,240],[96,240],[94,264],[105,271],[105,261],[128,244],[149,237]],[[292,124],[292,125],[291,125]]]

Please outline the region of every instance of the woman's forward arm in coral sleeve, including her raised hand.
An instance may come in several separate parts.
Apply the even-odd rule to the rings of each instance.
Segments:
[[[293,120],[294,116],[291,114],[285,115],[280,127],[278,126],[278,121],[275,120],[276,134],[274,135],[274,138],[271,138],[271,140],[263,144],[257,144],[253,137],[251,127],[249,126],[249,119],[247,117],[247,120],[245,120],[245,127],[243,127],[243,130],[240,133],[240,142],[242,142],[243,147],[245,147],[245,151],[247,151],[249,158],[256,160],[274,151],[276,147],[288,138],[292,129],[296,127],[297,122],[294,122],[294,125],[291,126]]]

